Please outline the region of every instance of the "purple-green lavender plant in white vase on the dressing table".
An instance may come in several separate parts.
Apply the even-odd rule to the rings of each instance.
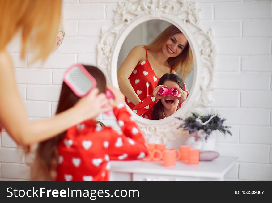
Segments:
[[[203,130],[206,133],[205,140],[208,139],[208,137],[214,130],[219,130],[224,135],[226,135],[226,133],[232,135],[232,133],[229,131],[230,126],[223,125],[226,119],[220,118],[218,113],[217,114],[207,113],[204,115],[200,115],[198,113],[193,112],[191,116],[185,119],[178,117],[176,118],[180,121],[183,121],[183,123],[178,128],[183,128],[187,130],[189,134],[198,132],[199,130]]]

